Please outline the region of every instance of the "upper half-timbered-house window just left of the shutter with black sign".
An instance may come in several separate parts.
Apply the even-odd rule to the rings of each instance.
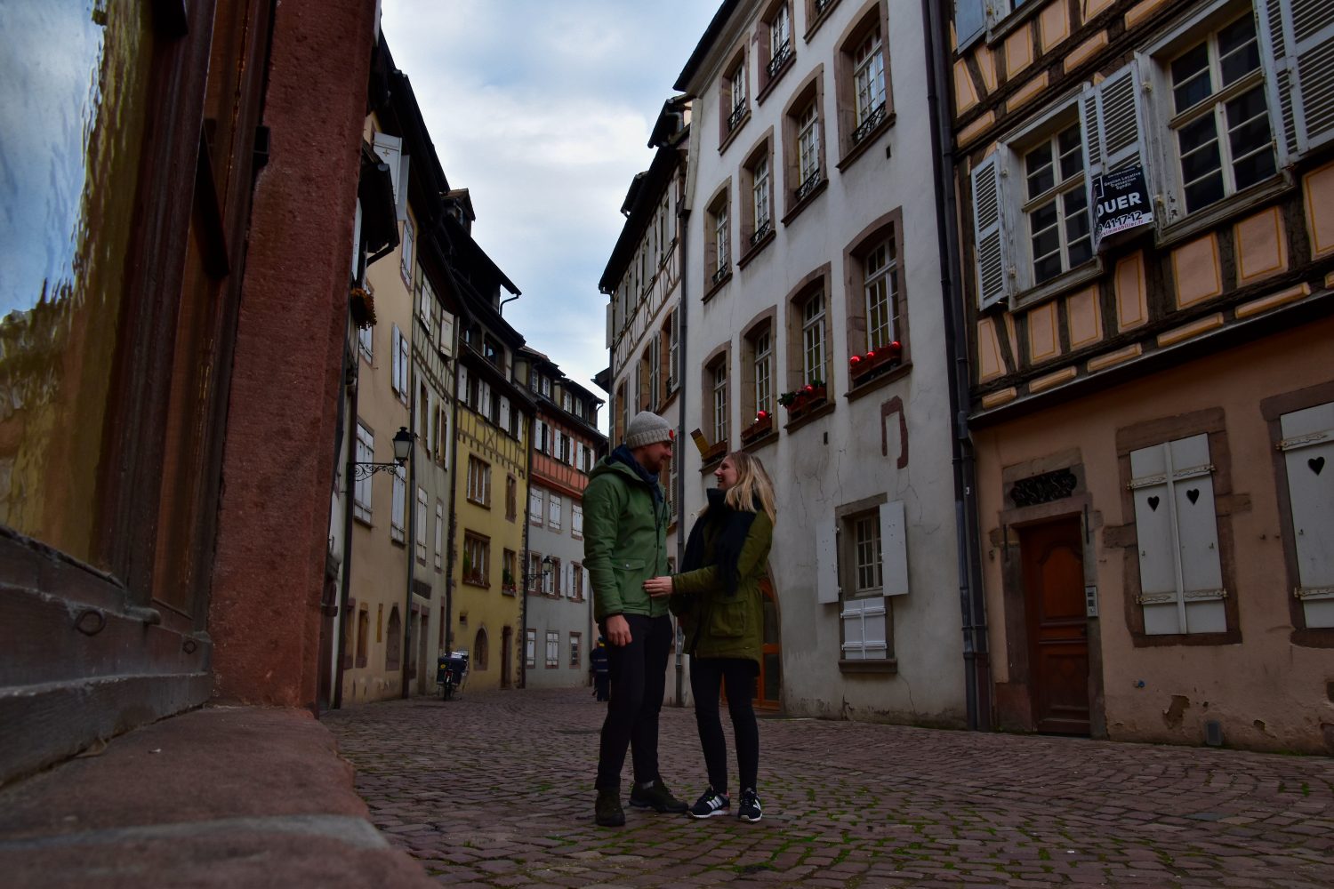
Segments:
[[[1093,259],[1078,120],[1025,153],[1023,183],[1031,281],[1042,284]]]

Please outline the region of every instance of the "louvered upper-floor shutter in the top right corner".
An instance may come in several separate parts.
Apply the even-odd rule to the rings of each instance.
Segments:
[[[1259,16],[1274,60],[1285,141],[1305,155],[1334,140],[1334,17],[1325,0],[1267,0]]]

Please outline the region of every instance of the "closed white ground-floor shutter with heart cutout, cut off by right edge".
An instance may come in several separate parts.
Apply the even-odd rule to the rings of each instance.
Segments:
[[[1279,428],[1297,549],[1293,594],[1309,628],[1334,626],[1334,401],[1285,413]]]

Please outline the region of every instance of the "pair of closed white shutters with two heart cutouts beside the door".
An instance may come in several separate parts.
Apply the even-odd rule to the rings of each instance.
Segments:
[[[1227,630],[1213,472],[1206,433],[1130,452],[1149,636]]]

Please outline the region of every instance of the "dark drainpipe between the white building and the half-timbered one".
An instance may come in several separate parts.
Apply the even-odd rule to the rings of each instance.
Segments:
[[[926,28],[927,109],[931,120],[931,155],[935,173],[935,208],[939,217],[940,297],[944,308],[946,355],[950,361],[950,415],[954,417],[951,456],[954,464],[954,522],[958,538],[959,610],[963,618],[963,681],[968,729],[991,729],[991,680],[987,654],[986,597],[982,589],[976,466],[968,435],[968,353],[962,289],[955,273],[962,268],[958,208],[954,203],[954,137],[942,100],[950,96],[944,35],[948,16],[942,4],[922,0]]]

